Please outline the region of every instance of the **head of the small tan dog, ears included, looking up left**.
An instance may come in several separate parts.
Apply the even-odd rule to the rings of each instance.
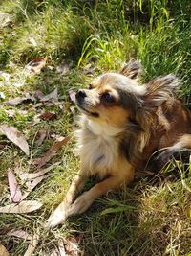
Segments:
[[[143,109],[154,109],[172,98],[172,90],[178,85],[173,75],[139,85],[140,71],[138,62],[130,62],[119,74],[101,75],[88,89],[76,93],[76,105],[90,119],[114,127],[121,127],[128,120],[138,123]]]

